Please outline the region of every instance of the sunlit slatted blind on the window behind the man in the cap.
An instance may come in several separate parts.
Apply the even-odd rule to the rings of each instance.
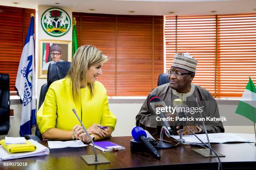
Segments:
[[[176,52],[198,61],[193,83],[214,97],[241,97],[256,80],[256,15],[165,16],[166,70]]]

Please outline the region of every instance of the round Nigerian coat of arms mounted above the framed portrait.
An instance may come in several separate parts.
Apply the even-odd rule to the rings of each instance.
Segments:
[[[50,8],[41,17],[43,30],[54,37],[66,34],[71,26],[71,20],[66,11],[60,8]]]

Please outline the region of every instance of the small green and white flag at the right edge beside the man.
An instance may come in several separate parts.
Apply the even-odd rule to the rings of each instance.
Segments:
[[[251,78],[237,106],[236,113],[256,123],[256,88]]]

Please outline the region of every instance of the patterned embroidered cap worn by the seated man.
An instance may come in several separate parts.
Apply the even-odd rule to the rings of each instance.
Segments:
[[[197,60],[189,53],[176,53],[172,62],[172,67],[182,68],[187,71],[196,72]]]

